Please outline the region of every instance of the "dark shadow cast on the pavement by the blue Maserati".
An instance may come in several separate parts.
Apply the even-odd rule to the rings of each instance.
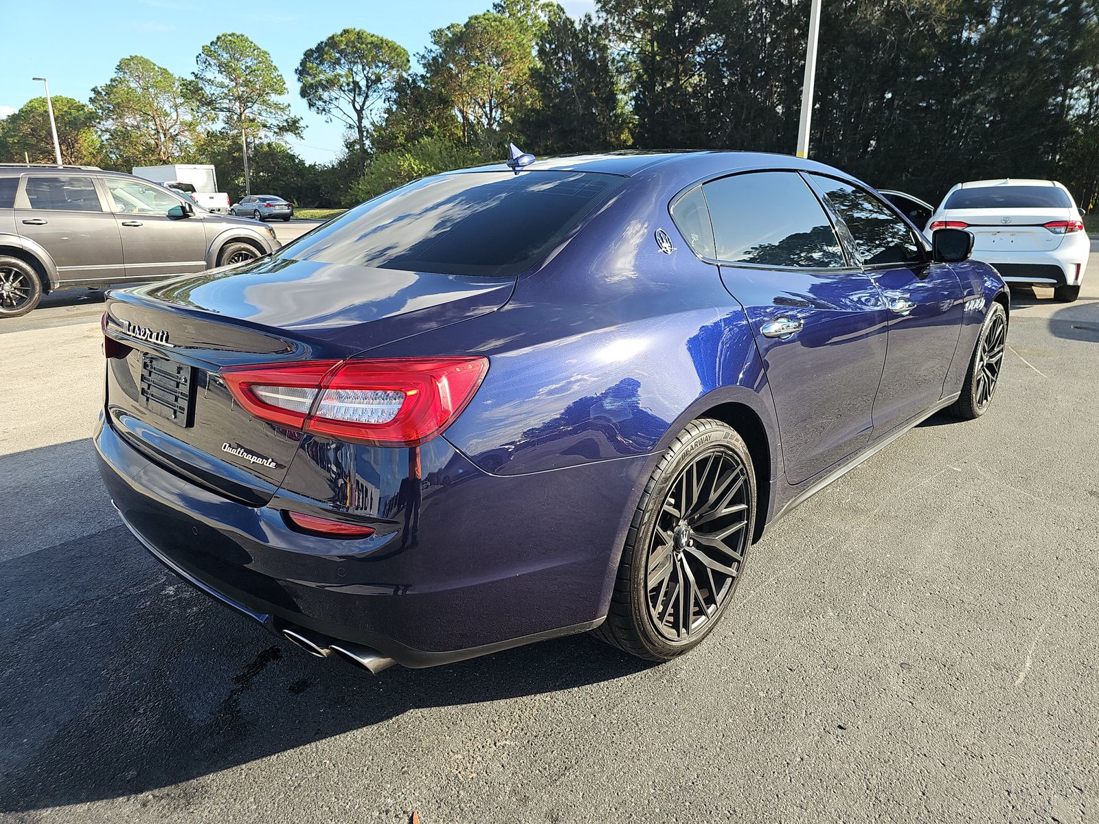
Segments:
[[[142,793],[410,709],[548,693],[651,666],[574,636],[371,677],[214,603],[121,525],[0,563],[0,604],[3,813]],[[358,742],[354,757],[368,762]]]

